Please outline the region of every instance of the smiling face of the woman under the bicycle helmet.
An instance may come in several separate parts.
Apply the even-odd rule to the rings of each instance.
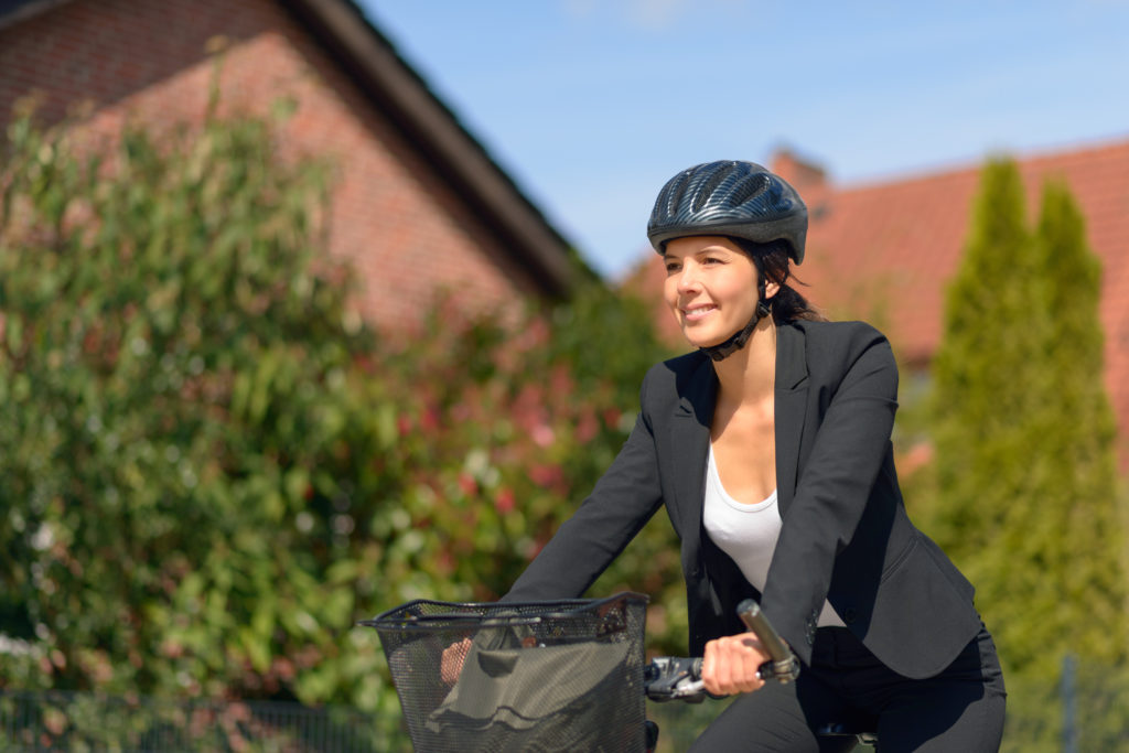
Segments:
[[[664,297],[682,334],[698,348],[725,342],[756,310],[756,266],[723,236],[692,236],[666,243]],[[770,283],[771,297],[778,286]]]

